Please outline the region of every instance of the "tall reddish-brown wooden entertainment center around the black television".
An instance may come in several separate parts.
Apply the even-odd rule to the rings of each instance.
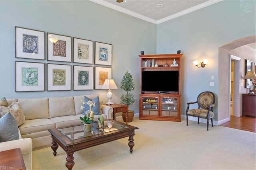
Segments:
[[[140,57],[140,116],[142,120],[157,121],[181,121],[181,57],[183,54],[156,54],[139,55]],[[157,67],[152,67],[152,60]],[[174,61],[175,60],[175,61]],[[166,64],[167,63],[167,64]],[[145,67],[146,66],[146,67]],[[171,77],[165,77],[169,83],[176,83],[178,91],[143,91],[142,74],[143,71],[178,71],[178,77],[173,82]],[[164,73],[164,72],[163,72]],[[154,74],[155,75],[155,74]],[[160,77],[162,75],[159,75]],[[151,77],[154,81],[154,77]],[[159,82],[162,83],[161,81]],[[151,84],[148,83],[150,86]],[[170,84],[171,85],[171,84]]]

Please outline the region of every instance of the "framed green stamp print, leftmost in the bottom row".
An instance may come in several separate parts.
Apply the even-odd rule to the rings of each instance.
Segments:
[[[15,92],[44,91],[44,63],[15,61]]]

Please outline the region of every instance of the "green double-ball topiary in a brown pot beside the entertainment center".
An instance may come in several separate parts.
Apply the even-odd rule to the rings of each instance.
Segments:
[[[135,83],[134,83],[134,79],[132,78],[132,75],[128,71],[126,71],[126,73],[124,74],[124,76],[121,80],[120,88],[127,92],[126,94],[121,95],[120,103],[122,105],[127,105],[128,107],[130,105],[134,104],[135,97],[132,93],[129,93],[129,92],[135,89]],[[123,117],[123,121],[125,122],[126,121],[125,112],[122,113],[122,117]],[[131,122],[133,117],[134,117],[134,111],[129,110],[128,111],[128,122]]]

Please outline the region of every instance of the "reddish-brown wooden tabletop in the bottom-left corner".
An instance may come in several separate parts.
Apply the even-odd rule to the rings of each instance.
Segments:
[[[0,169],[26,170],[20,148],[0,152]]]

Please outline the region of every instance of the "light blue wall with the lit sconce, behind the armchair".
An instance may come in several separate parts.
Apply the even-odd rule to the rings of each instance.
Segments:
[[[185,115],[186,103],[196,101],[202,91],[215,93],[214,112],[217,113],[218,85],[221,85],[218,82],[218,48],[256,35],[255,6],[254,0],[224,0],[157,25],[157,53],[176,53],[177,50],[184,53],[182,115]],[[197,68],[192,63],[203,59],[209,60],[204,68]],[[212,75],[214,80],[211,80]],[[214,82],[214,87],[210,87],[209,82]],[[218,120],[218,114],[214,120]]]

